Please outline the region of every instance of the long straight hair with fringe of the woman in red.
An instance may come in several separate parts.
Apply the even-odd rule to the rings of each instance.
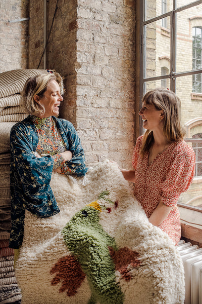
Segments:
[[[142,102],[154,105],[157,110],[164,111],[163,133],[169,141],[183,140],[186,132],[180,121],[181,102],[173,91],[164,88],[151,90],[144,95]],[[153,143],[153,131],[146,130],[140,149],[142,157],[146,151],[149,151]]]

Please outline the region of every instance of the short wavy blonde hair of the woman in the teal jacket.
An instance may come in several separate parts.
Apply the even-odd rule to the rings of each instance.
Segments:
[[[34,97],[37,95],[40,98],[44,96],[45,91],[47,90],[47,86],[51,81],[57,81],[61,94],[64,93],[63,88],[63,79],[59,73],[45,73],[41,75],[37,75],[34,77],[30,77],[21,92],[21,104],[24,105],[26,113],[30,115],[43,114],[44,108],[41,104],[38,104]]]

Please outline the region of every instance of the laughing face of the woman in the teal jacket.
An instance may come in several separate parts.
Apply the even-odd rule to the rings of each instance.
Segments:
[[[57,81],[50,81],[47,85],[47,90],[43,94],[43,97],[40,98],[40,100],[37,99],[35,101],[38,102],[44,109],[44,113],[40,116],[40,118],[58,116],[59,106],[61,101],[63,101],[63,97],[60,94],[60,86]]]

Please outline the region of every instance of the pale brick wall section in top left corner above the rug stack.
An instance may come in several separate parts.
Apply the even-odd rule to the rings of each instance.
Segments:
[[[0,72],[28,67],[28,0],[0,0]]]

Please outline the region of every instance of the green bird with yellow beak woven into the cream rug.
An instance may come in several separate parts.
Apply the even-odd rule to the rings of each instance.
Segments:
[[[99,224],[101,208],[97,201],[82,208],[67,223],[62,235],[88,279],[92,292],[88,304],[97,301],[102,304],[122,304],[124,294],[116,283],[115,264],[109,250],[110,247],[117,251],[117,246]]]

